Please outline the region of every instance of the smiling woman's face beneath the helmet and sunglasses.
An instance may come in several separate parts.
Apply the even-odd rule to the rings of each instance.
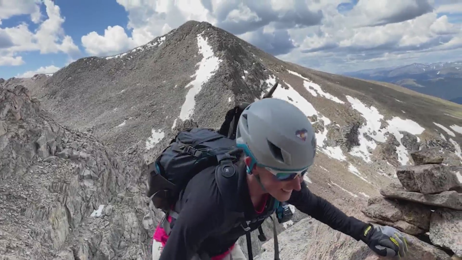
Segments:
[[[246,158],[246,163],[247,165],[250,164],[249,157]],[[261,184],[266,191],[280,202],[289,200],[293,190],[299,191],[302,188],[301,183],[303,179],[300,176],[297,176],[293,180],[278,180],[273,173],[264,167],[258,166],[254,166],[252,174],[259,176]]]

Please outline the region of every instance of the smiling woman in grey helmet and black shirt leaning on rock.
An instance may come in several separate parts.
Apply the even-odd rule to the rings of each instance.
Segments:
[[[407,242],[397,229],[349,217],[310,192],[303,176],[313,164],[316,137],[296,106],[273,98],[248,105],[238,120],[236,144],[243,155],[223,174],[236,171],[236,185],[225,184],[235,192],[221,192],[218,183],[226,178],[217,180],[215,167],[196,174],[180,193],[175,209],[181,210],[158,225],[153,260],[245,260],[237,239],[257,229],[279,202],[364,241],[378,255],[406,254]]]

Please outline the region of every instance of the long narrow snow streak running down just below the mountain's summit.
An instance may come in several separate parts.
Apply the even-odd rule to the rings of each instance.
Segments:
[[[219,64],[222,61],[214,55],[212,47],[207,43],[207,37],[205,39],[202,37],[203,33],[204,32],[197,36],[197,46],[203,58],[196,64],[199,68],[196,73],[191,76],[195,76],[195,80],[185,86],[185,88],[190,88],[180,111],[180,119],[183,121],[191,117],[194,112],[195,95],[201,91],[202,85],[215,74],[215,71],[219,68]]]

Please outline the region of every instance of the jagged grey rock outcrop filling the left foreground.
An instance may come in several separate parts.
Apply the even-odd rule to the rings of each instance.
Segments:
[[[146,259],[136,151],[55,123],[22,85],[0,87],[0,122],[0,259]]]

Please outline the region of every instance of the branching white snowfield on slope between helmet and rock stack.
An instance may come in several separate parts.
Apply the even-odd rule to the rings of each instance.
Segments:
[[[386,142],[387,135],[392,134],[399,142],[399,145],[396,146],[398,161],[401,165],[406,165],[409,162],[409,156],[406,147],[401,142],[403,135],[400,131],[407,131],[413,135],[419,135],[425,130],[425,128],[410,119],[402,119],[399,117],[387,120],[386,123],[388,123],[388,126],[381,128],[383,115],[380,114],[377,108],[374,106],[367,107],[361,102],[361,100],[348,95],[346,95],[346,99],[350,102],[352,108],[359,111],[361,116],[366,120],[365,124],[363,124],[358,130],[359,146],[353,147],[350,154],[363,158],[365,162],[371,162],[369,149],[376,149],[376,141]],[[373,140],[367,140],[365,135],[371,136]],[[419,140],[419,137],[417,138]]]

